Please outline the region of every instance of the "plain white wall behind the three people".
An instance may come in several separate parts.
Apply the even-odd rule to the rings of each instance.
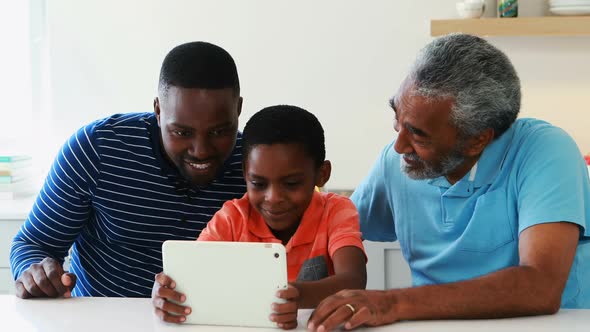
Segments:
[[[456,1],[48,1],[55,117],[41,158],[96,118],[151,111],[164,55],[179,43],[207,40],[237,62],[242,125],[271,104],[307,108],[326,130],[329,187],[353,188],[394,136],[387,101],[432,40],[429,20],[456,17]],[[523,0],[521,13],[544,6]],[[521,75],[522,115],[563,127],[590,152],[590,37],[490,41]]]

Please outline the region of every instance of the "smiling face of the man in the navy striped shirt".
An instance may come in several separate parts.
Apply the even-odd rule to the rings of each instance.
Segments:
[[[242,98],[231,88],[171,86],[154,111],[166,156],[193,186],[211,183],[236,142]]]

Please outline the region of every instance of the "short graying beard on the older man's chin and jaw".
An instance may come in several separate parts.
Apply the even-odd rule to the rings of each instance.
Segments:
[[[404,159],[402,158],[402,170],[414,180],[435,179],[446,176],[465,161],[465,156],[458,149],[449,152],[438,165],[422,160],[416,153],[404,154],[404,157],[420,164],[418,167],[410,166],[403,162]]]

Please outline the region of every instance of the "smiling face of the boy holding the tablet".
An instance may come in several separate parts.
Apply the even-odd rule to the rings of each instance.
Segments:
[[[250,204],[273,231],[294,230],[315,186],[329,178],[330,163],[319,169],[299,144],[255,145],[244,164]]]

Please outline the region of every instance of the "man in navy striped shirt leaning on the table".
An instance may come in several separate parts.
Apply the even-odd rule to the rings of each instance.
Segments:
[[[95,121],[63,146],[12,244],[17,296],[149,297],[162,242],[194,239],[245,192],[241,107],[225,50],[172,49],[153,113]]]

